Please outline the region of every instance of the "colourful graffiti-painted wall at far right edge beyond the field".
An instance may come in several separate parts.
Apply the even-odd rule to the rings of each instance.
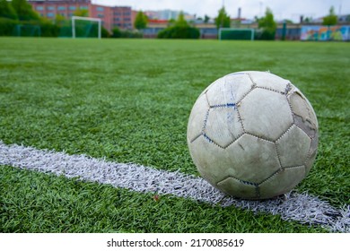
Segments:
[[[348,41],[350,40],[350,25],[302,26],[301,40]]]

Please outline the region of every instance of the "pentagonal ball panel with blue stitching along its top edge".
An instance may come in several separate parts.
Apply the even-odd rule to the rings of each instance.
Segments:
[[[232,106],[210,108],[204,132],[214,143],[223,148],[234,142],[243,134],[236,108]]]

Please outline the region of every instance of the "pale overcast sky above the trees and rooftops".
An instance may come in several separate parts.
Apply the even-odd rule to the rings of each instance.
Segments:
[[[254,18],[263,15],[267,7],[272,9],[277,20],[291,19],[298,21],[300,15],[318,18],[328,14],[330,6],[336,13],[350,14],[350,0],[92,0],[93,4],[127,5],[136,10],[184,11],[197,16],[210,17],[217,15],[218,9],[224,4],[226,12],[231,17],[237,17],[241,7],[241,16]]]

